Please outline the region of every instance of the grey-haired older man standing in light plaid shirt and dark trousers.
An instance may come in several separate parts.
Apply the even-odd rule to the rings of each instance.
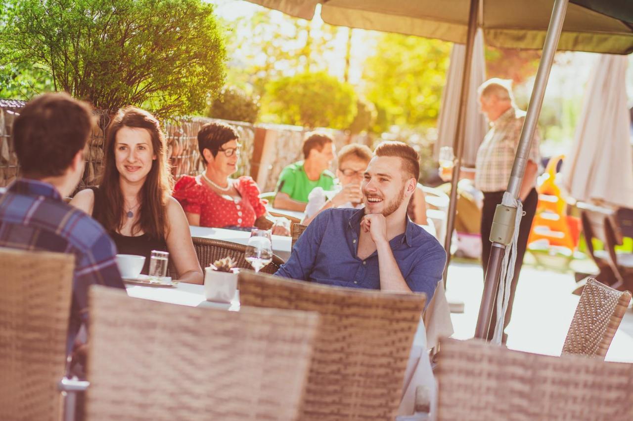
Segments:
[[[475,161],[475,187],[484,193],[484,207],[481,216],[482,265],[484,277],[492,243],[490,231],[494,211],[501,204],[503,193],[508,187],[512,166],[517,153],[521,136],[525,111],[515,106],[511,92],[511,81],[494,78],[484,82],[479,87],[479,102],[482,113],[486,114],[491,128],[484,137],[484,142],[477,151]],[[510,301],[506,311],[504,328],[510,323],[512,303],[517,290],[518,275],[523,264],[523,255],[527,247],[527,238],[532,227],[532,219],[536,212],[538,195],[536,193],[536,176],[539,169],[539,133],[536,131],[530,147],[529,161],[525,166],[525,176],[519,192],[519,199],[523,203],[525,215],[521,218],[521,225],[517,243],[517,262],[514,278],[510,288]],[[493,306],[492,320],[496,320],[496,306]],[[489,337],[492,337],[494,323],[491,324]],[[503,343],[507,335],[503,334]]]

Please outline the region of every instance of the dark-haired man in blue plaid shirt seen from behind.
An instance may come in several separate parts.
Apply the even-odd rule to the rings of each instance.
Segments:
[[[75,255],[68,353],[87,322],[89,287],[125,288],[113,241],[99,223],[63,200],[84,174],[83,150],[93,126],[91,108],[67,94],[28,102],[13,125],[23,177],[0,194],[0,247]]]

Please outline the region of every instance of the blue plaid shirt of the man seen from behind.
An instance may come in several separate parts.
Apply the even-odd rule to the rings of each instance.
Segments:
[[[88,320],[89,287],[125,288],[110,237],[94,219],[66,204],[49,183],[18,179],[0,195],[0,247],[75,255],[68,351]]]

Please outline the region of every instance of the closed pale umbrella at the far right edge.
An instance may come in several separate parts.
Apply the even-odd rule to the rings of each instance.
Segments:
[[[573,145],[562,169],[563,188],[581,202],[633,208],[627,61],[626,56],[598,56],[587,84]]]

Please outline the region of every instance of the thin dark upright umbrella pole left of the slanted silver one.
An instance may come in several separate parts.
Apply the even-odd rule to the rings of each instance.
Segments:
[[[464,71],[461,75],[460,108],[457,113],[457,130],[453,141],[453,149],[457,162],[453,168],[451,178],[451,200],[448,202],[448,220],[446,221],[446,238],[444,250],[446,250],[446,267],[444,267],[444,288],[446,288],[446,276],[448,265],[451,262],[451,240],[453,239],[453,227],[457,209],[457,183],[460,181],[461,157],[464,154],[464,138],[466,137],[466,109],[468,106],[468,92],[470,90],[470,69],[473,61],[473,46],[477,33],[477,13],[479,13],[479,1],[470,0],[470,13],[468,14],[468,34],[466,39],[466,57],[464,58]]]

